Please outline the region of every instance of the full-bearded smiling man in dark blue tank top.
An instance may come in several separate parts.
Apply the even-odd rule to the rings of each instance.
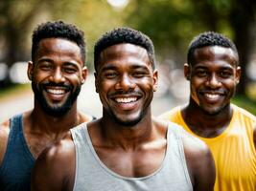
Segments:
[[[39,25],[33,33],[32,111],[0,126],[0,190],[30,190],[31,170],[41,151],[63,138],[68,130],[92,117],[77,109],[85,81],[83,32],[62,21]]]

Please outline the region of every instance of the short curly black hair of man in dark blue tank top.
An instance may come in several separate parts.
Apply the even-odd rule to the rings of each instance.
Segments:
[[[83,32],[75,25],[66,24],[63,21],[42,23],[35,28],[32,36],[32,60],[35,61],[35,53],[40,40],[45,38],[63,38],[76,43],[81,50],[81,59],[85,64],[86,45]]]

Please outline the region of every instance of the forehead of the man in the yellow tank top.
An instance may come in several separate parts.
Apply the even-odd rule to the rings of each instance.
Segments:
[[[207,62],[223,62],[235,67],[238,65],[238,55],[230,48],[207,46],[195,50],[192,62],[193,65]]]

